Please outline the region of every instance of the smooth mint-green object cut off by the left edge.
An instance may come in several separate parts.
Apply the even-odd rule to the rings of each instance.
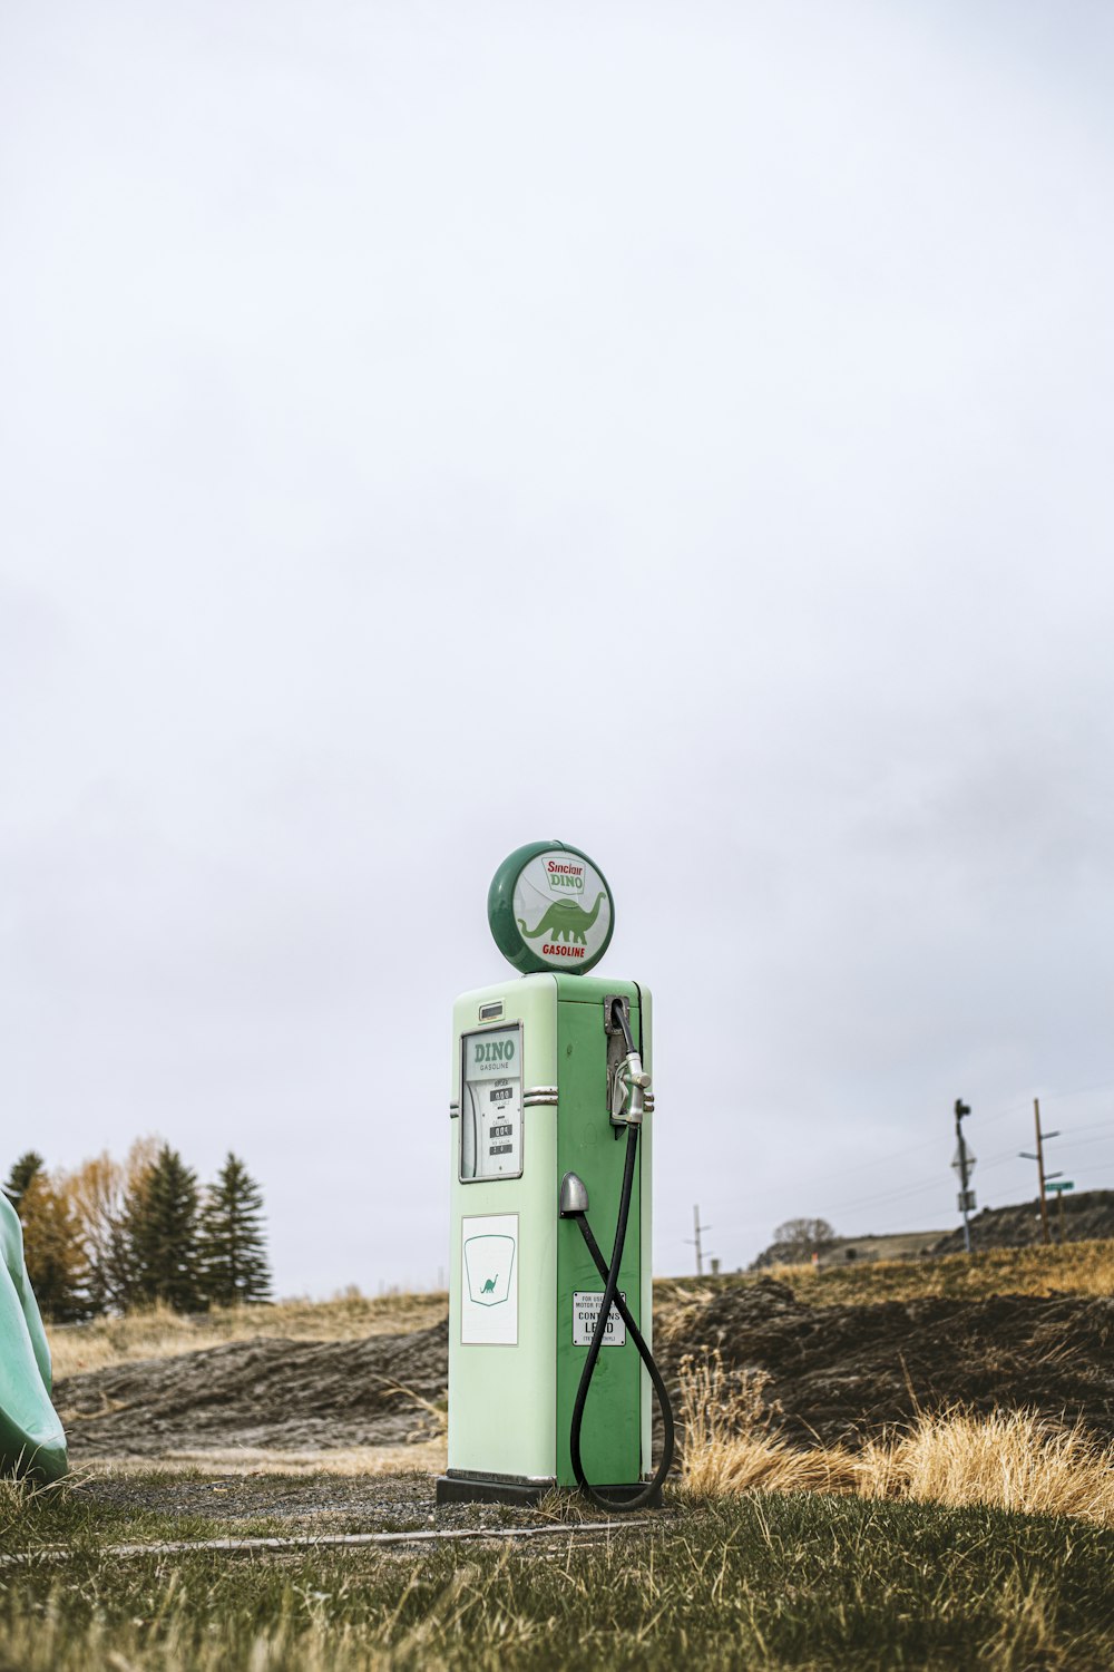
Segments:
[[[50,1403],[50,1348],[23,1264],[18,1214],[0,1195],[0,1468],[65,1475],[65,1433]]]

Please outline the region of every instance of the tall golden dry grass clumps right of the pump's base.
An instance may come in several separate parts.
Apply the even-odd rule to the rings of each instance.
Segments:
[[[765,1373],[730,1373],[718,1353],[685,1359],[681,1485],[700,1496],[838,1491],[1114,1527],[1114,1446],[1032,1411],[922,1411],[905,1431],[843,1446],[792,1446],[765,1403]]]

